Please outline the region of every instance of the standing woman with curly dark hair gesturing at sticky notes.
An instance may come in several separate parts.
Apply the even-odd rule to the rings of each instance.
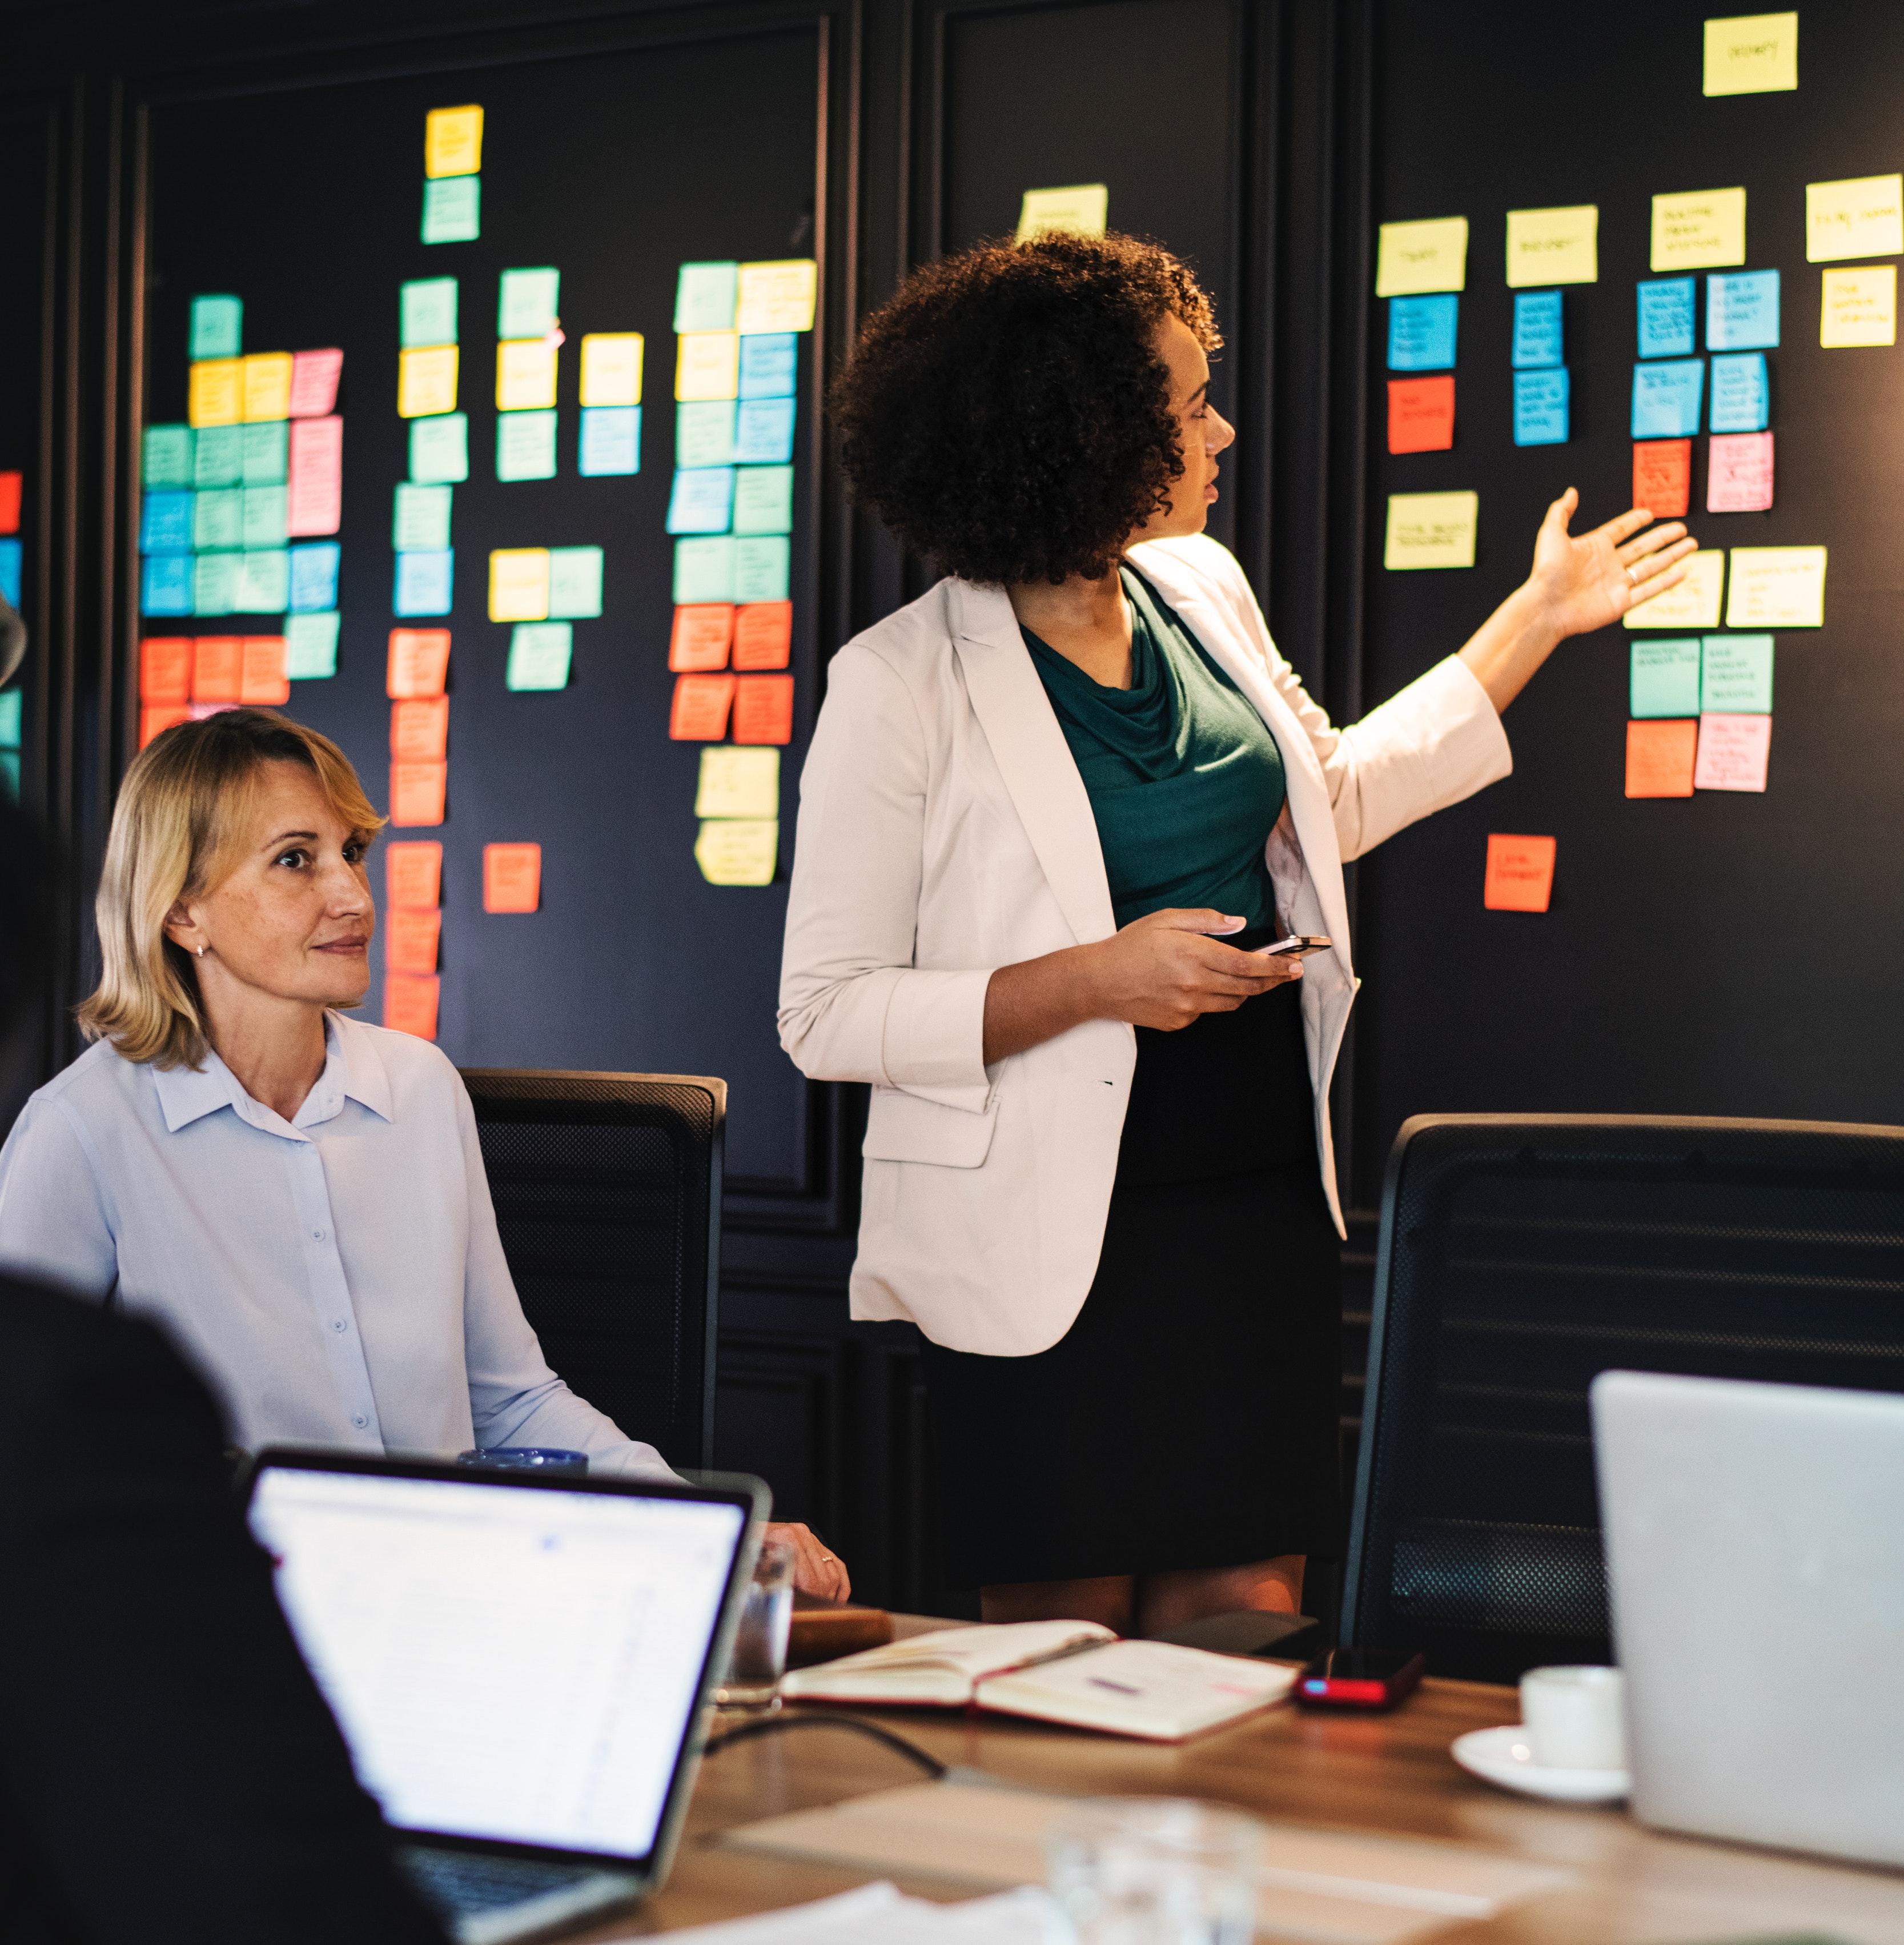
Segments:
[[[832,661],[780,1039],[869,1081],[852,1307],[926,1334],[955,1585],[1157,1634],[1340,1552],[1328,1078],[1342,862],[1511,768],[1499,712],[1694,543],[1634,510],[1336,729],[1204,535],[1208,296],[1132,237],[984,245],[875,313],[832,408],[943,570]],[[1287,932],[1309,959],[1262,957]]]

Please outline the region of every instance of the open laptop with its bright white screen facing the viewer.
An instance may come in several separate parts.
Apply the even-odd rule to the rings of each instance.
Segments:
[[[264,1451],[251,1531],[399,1865],[461,1945],[667,1877],[768,1492]]]

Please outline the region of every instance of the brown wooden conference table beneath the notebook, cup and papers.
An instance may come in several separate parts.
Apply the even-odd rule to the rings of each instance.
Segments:
[[[900,1616],[895,1616],[899,1622]],[[918,1632],[924,1622],[900,1624]],[[1278,1708],[1192,1743],[1161,1747],[1009,1717],[864,1710],[945,1764],[1079,1795],[1192,1795],[1272,1822],[1439,1838],[1568,1873],[1566,1889],[1486,1922],[1457,1920],[1433,1945],[1678,1945],[1826,1933],[1904,1945],[1904,1873],[1643,1830],[1622,1807],[1575,1809],[1507,1795],[1461,1770],[1447,1747],[1468,1729],[1519,1719],[1511,1688],[1428,1680],[1393,1715]],[[887,1873],[722,1846],[722,1832],[920,1782],[867,1737],[799,1729],[710,1754],[667,1889],[638,1914],[580,1933],[605,1941],[803,1904]],[[1778,1776],[1766,1776],[1778,1787]],[[897,1877],[928,1898],[980,1887]]]

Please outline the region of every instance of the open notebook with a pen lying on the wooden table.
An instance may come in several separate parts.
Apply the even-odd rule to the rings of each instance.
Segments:
[[[1120,1642],[1089,1620],[939,1628],[799,1669],[792,1702],[912,1704],[1033,1715],[1155,1743],[1221,1727],[1280,1702],[1297,1671],[1171,1642]]]

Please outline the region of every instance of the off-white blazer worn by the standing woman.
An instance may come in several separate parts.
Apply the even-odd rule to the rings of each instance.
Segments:
[[[1328,1079],[1359,984],[1342,860],[1507,776],[1507,737],[1459,657],[1336,729],[1227,548],[1149,541],[1132,560],[1282,749],[1276,906],[1336,941],[1303,969],[1303,1029],[1340,1229]],[[854,1317],[998,1358],[1070,1330],[1097,1274],[1136,1033],[1093,1019],[988,1068],[984,996],[996,967],[1114,930],[1091,799],[1005,593],[949,578],[854,636],[799,780],[780,972],[799,1070],[873,1087]]]

